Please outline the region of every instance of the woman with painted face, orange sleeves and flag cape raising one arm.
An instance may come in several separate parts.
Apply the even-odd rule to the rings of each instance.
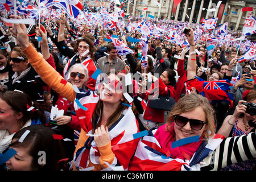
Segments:
[[[74,103],[82,129],[73,169],[101,170],[108,167],[113,169],[115,166],[127,169],[139,140],[134,139],[133,134],[139,130],[129,106],[132,97],[127,92],[121,92],[127,90],[120,81],[122,74],[115,72],[105,77],[99,96],[92,90],[77,90],[32,48],[24,24],[13,24],[13,28],[11,32],[17,43],[40,77],[61,96]]]

